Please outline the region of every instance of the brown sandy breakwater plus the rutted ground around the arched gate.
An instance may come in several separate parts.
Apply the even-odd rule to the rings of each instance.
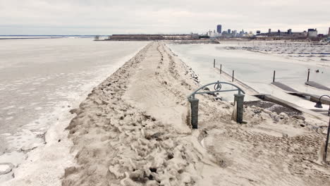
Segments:
[[[326,185],[324,141],[310,118],[199,96],[200,129],[186,125],[193,72],[152,42],[95,87],[68,126],[78,166],[63,185]]]

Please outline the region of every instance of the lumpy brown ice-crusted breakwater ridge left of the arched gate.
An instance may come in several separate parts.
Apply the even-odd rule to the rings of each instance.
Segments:
[[[164,44],[149,44],[72,111],[77,116],[68,130],[73,150],[78,151],[78,166],[66,169],[63,185],[195,182],[197,173],[190,162],[198,157],[188,156],[189,145],[180,139],[190,134],[187,116],[181,112],[187,113],[184,92],[196,84],[190,80],[188,68],[174,62],[164,50]],[[190,84],[179,75],[179,69]],[[145,78],[138,78],[140,75]],[[154,105],[158,116],[151,116],[149,106],[142,105],[144,98]],[[162,121],[161,115],[172,120]]]

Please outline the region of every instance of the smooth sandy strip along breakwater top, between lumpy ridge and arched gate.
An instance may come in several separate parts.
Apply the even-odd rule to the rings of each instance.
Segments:
[[[176,73],[185,66],[176,67],[164,45],[154,47],[157,50],[148,53],[128,85],[125,99],[178,132],[190,132],[185,113],[187,90],[191,87]]]

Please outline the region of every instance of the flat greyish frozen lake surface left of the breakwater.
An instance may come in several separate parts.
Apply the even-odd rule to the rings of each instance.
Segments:
[[[45,143],[54,123],[68,123],[73,106],[147,42],[89,39],[0,41],[0,163],[19,165]],[[0,171],[1,171],[0,170]],[[1,180],[8,179],[0,175]]]

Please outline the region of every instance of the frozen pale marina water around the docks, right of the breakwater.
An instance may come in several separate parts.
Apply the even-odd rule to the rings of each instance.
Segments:
[[[325,51],[330,51],[330,45],[315,45],[305,44],[307,49],[315,49],[321,52],[322,55],[313,56],[313,58],[292,57],[290,54],[269,54],[261,51],[255,52],[247,49],[255,47],[281,47],[293,51],[300,50],[303,43],[286,44],[283,42],[221,42],[221,44],[168,44],[172,51],[176,53],[188,66],[191,66],[195,73],[200,76],[202,84],[215,82],[216,80],[224,80],[219,72],[213,68],[213,61],[216,60],[216,67],[222,65],[222,70],[226,73],[232,73],[235,70],[235,77],[245,84],[249,85],[257,92],[263,94],[273,94],[281,99],[289,100],[298,106],[306,109],[314,109],[314,103],[291,96],[283,92],[282,89],[271,85],[273,73],[276,70],[276,81],[282,82],[285,85],[293,87],[299,92],[307,92],[311,94],[330,94],[328,91],[315,89],[305,85],[307,80],[307,70],[310,69],[310,80],[319,82],[322,85],[330,87],[330,62],[324,61],[324,58],[329,58],[329,54]],[[290,48],[291,47],[291,48]],[[309,48],[308,48],[309,47]],[[314,48],[313,48],[314,47]],[[311,48],[311,49],[310,49]],[[327,56],[326,56],[327,55]],[[324,63],[327,63],[324,65]],[[319,73],[316,73],[319,70]],[[233,99],[232,94],[224,94],[224,99]],[[248,100],[249,97],[247,97]],[[252,99],[252,97],[250,97]]]

